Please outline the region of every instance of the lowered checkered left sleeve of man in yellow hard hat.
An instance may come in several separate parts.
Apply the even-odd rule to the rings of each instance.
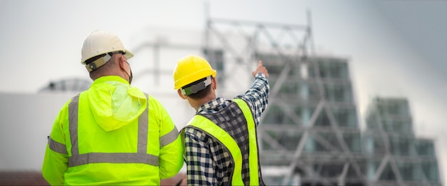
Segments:
[[[188,185],[217,185],[214,161],[204,138],[205,133],[194,128],[185,128]]]

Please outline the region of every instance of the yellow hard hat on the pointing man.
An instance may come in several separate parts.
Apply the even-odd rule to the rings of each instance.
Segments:
[[[179,59],[174,68],[174,89],[179,90],[208,76],[216,77],[216,70],[211,68],[206,59],[194,55],[186,56]]]

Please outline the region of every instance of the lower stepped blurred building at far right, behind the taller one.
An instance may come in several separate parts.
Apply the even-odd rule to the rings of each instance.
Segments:
[[[371,183],[441,186],[433,141],[415,137],[407,100],[375,98],[368,109],[363,142],[367,166],[377,167]]]

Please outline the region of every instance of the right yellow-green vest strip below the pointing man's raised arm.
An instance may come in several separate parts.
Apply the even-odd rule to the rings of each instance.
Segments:
[[[248,108],[247,104],[244,100],[241,99],[233,99],[241,108],[243,115],[247,120],[248,125],[248,139],[250,141],[250,154],[248,155],[248,162],[250,165],[250,185],[258,185],[259,177],[258,177],[258,144],[256,139],[256,128],[254,124],[253,115],[251,115],[251,110]],[[253,166],[256,165],[256,166]]]

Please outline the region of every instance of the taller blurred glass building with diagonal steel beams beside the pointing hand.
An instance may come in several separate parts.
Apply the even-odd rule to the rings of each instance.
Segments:
[[[300,185],[336,185],[343,177],[363,185],[365,161],[346,59],[255,56],[268,59],[263,65],[276,91],[259,127],[261,160],[292,170],[283,177],[263,174],[266,184],[287,185],[298,177]]]

